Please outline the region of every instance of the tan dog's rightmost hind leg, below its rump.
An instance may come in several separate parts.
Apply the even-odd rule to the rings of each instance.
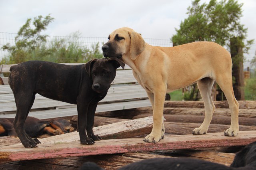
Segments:
[[[238,123],[239,104],[234,96],[234,91],[232,86],[232,77],[227,76],[227,73],[225,73],[221,77],[218,77],[216,79],[216,82],[220,86],[220,89],[222,89],[228,101],[228,106],[231,112],[231,125],[230,125],[230,128],[228,128],[224,132],[224,134],[225,136],[236,136],[239,131],[239,123]]]

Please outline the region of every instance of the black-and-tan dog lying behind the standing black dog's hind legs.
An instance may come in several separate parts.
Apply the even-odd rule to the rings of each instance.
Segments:
[[[18,135],[12,126],[14,118],[0,118],[0,136],[16,138]],[[36,138],[44,133],[58,135],[73,132],[74,128],[63,118],[40,120],[35,117],[27,117],[24,128],[28,136]]]

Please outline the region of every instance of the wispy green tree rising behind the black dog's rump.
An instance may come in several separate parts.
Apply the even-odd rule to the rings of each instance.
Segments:
[[[2,49],[10,52],[10,63],[21,63],[24,62],[28,57],[28,53],[35,50],[41,43],[46,42],[46,35],[41,35],[43,30],[54,18],[46,16],[35,17],[33,22],[31,18],[28,18],[26,23],[20,28],[17,36],[15,37],[15,46],[10,46],[10,43],[3,45]],[[31,26],[31,22],[33,27]],[[6,61],[7,59],[4,59]]]

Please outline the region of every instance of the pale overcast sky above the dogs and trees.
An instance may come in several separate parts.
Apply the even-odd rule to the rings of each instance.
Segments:
[[[200,2],[209,2],[201,0]],[[130,27],[144,38],[170,39],[187,18],[192,0],[0,0],[0,32],[17,33],[28,18],[51,14],[45,34],[108,37],[115,29]],[[244,3],[241,23],[248,39],[256,41],[256,0]],[[256,43],[256,42],[255,42]],[[252,50],[256,50],[256,45]],[[252,53],[252,52],[251,52]],[[254,55],[254,52],[253,52]]]

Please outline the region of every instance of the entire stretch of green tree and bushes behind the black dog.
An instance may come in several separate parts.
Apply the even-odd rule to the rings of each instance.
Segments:
[[[92,49],[88,49],[79,42],[80,33],[75,32],[66,38],[49,39],[46,35],[41,35],[43,30],[54,18],[50,15],[43,18],[38,16],[34,21],[29,18],[20,28],[15,37],[15,45],[9,43],[2,49],[10,52],[4,57],[0,64],[14,64],[29,60],[52,61],[56,63],[85,63],[93,58],[102,58],[99,50],[99,43],[93,44]],[[33,25],[31,26],[31,22]],[[33,28],[32,28],[33,27]]]

